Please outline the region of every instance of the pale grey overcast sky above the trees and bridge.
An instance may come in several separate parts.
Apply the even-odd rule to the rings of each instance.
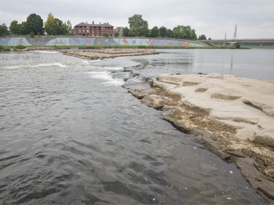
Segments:
[[[238,38],[274,38],[274,0],[2,0],[0,24],[25,21],[29,14],[44,22],[52,12],[55,18],[76,25],[81,22],[110,23],[128,27],[128,18],[141,14],[149,28],[190,25],[197,36],[232,38],[238,25]]]

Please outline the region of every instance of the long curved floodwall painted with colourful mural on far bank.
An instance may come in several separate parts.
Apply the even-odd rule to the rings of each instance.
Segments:
[[[55,37],[3,37],[2,46],[204,46],[187,40],[157,39],[157,38],[55,38]]]

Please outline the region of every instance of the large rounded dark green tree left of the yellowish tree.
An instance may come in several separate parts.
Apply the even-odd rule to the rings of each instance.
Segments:
[[[38,32],[44,33],[42,18],[39,15],[30,14],[27,17],[26,29],[27,29],[27,33],[30,33],[31,31],[33,31],[35,35],[37,35]]]

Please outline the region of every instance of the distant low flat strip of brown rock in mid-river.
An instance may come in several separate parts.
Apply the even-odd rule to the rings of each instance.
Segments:
[[[154,55],[159,54],[159,52],[152,49],[91,49],[84,51],[64,51],[63,54],[86,59],[103,59],[130,55]]]

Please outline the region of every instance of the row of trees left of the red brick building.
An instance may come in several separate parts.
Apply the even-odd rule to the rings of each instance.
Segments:
[[[31,34],[31,36],[34,35],[43,35],[45,31],[48,35],[73,35],[73,27],[71,25],[71,21],[67,20],[65,23],[63,23],[62,20],[58,18],[54,18],[54,16],[49,13],[47,17],[47,21],[45,22],[45,27],[42,18],[37,14],[30,14],[27,17],[26,21],[23,21],[22,23],[18,23],[17,20],[13,20],[12,23],[10,23],[9,27],[10,31],[8,30],[8,27],[5,24],[0,25],[0,36],[4,35],[28,35]]]

